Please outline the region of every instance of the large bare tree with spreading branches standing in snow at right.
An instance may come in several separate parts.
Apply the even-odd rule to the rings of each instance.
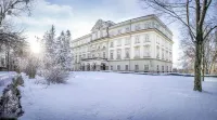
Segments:
[[[187,29],[195,45],[194,91],[202,91],[202,44],[206,37],[217,28],[214,0],[142,0],[157,14],[164,14],[180,22]],[[206,23],[206,25],[204,24]],[[204,32],[204,30],[206,32]]]

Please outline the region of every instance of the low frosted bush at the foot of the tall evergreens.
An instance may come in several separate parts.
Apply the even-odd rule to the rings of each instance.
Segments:
[[[68,71],[62,69],[59,66],[51,67],[50,69],[47,69],[43,71],[43,77],[48,81],[48,84],[50,83],[65,83],[66,78],[68,77]]]

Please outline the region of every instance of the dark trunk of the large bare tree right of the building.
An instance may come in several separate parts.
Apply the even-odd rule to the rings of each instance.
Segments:
[[[195,63],[194,63],[194,91],[202,92],[201,84],[201,65],[202,65],[202,45],[203,45],[203,35],[202,32],[196,36],[196,54],[195,54]]]

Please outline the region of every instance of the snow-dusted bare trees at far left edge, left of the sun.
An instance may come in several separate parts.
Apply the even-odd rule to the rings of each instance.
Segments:
[[[34,0],[1,0],[0,1],[0,52],[7,53],[7,67],[9,70],[11,61],[17,61],[23,56],[27,46],[23,30],[15,30],[14,16],[23,13],[30,14]],[[8,16],[11,16],[10,18]],[[13,56],[13,58],[12,58]]]

